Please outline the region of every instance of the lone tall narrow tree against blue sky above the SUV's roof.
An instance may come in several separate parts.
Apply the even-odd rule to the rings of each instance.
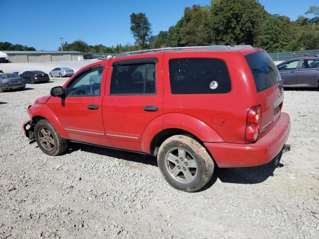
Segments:
[[[145,13],[131,14],[131,31],[136,40],[136,44],[142,48],[148,47],[149,37],[152,34],[151,23]]]

